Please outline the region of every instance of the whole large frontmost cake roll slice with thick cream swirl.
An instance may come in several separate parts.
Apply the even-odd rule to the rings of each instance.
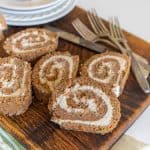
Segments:
[[[48,105],[51,121],[67,130],[106,134],[120,120],[120,103],[106,87],[86,78],[59,85]]]

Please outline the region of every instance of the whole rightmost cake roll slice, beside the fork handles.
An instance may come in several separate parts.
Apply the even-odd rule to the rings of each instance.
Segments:
[[[81,75],[109,86],[118,97],[125,86],[131,60],[125,54],[106,52],[97,54],[85,62]]]

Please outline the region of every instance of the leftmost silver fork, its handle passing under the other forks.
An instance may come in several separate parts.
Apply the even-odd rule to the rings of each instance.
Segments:
[[[91,41],[91,42],[102,42],[102,43],[105,43],[109,46],[112,46],[112,47],[118,49],[118,47],[114,43],[109,41],[108,39],[103,39],[101,37],[98,37],[79,18],[75,19],[72,22],[72,25],[84,39]],[[136,59],[139,61],[140,65],[142,65],[142,71],[144,73],[145,78],[147,78],[150,73],[150,66],[148,65],[147,60],[135,53],[134,53],[134,55],[135,55]]]

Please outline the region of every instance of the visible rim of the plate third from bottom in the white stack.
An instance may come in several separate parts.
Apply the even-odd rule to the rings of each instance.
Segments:
[[[33,10],[12,10],[12,9],[6,9],[6,8],[2,8],[0,7],[0,12],[4,13],[4,14],[15,14],[15,15],[29,15],[29,14],[37,14],[37,13],[42,13],[51,9],[54,9],[56,7],[58,7],[59,5],[61,5],[62,3],[64,3],[65,0],[61,0],[58,1],[56,5],[52,5],[52,6],[48,6],[45,8],[41,8],[41,9],[33,9]]]

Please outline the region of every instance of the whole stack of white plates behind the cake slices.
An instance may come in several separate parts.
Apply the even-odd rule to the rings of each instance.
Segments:
[[[0,12],[8,25],[40,25],[65,16],[75,3],[76,0],[0,0]]]

